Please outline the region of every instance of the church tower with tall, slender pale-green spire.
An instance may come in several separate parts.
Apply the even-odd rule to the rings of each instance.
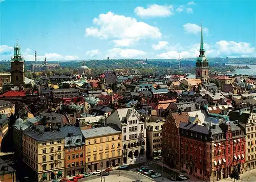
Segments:
[[[200,42],[200,54],[197,57],[196,63],[196,78],[202,80],[202,82],[209,81],[209,63],[205,56],[204,43],[203,43],[203,24],[201,25],[201,42]]]

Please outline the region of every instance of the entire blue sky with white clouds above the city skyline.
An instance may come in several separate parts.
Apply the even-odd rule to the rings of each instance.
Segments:
[[[0,0],[0,59],[255,57],[256,1]]]

